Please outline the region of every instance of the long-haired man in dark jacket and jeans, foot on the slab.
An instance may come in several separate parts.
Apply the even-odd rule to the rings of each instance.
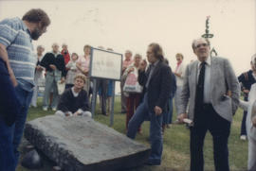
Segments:
[[[166,112],[168,99],[172,91],[172,70],[163,61],[163,51],[158,43],[148,46],[147,58],[151,63],[147,71],[145,67],[138,69],[138,82],[144,87],[144,98],[137,107],[136,113],[128,124],[127,136],[135,139],[137,129],[146,119],[150,119],[151,154],[145,164],[161,164],[163,139],[162,121],[163,113]]]

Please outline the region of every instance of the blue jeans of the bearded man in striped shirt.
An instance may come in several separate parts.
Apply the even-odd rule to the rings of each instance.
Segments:
[[[18,96],[18,100],[22,105],[21,111],[17,114],[16,120],[14,123],[13,142],[12,142],[13,150],[14,150],[14,159],[15,159],[14,164],[15,166],[17,166],[19,161],[19,156],[20,156],[18,147],[21,143],[21,139],[23,136],[23,130],[25,127],[26,119],[27,119],[27,110],[29,108],[29,104],[31,102],[33,92],[28,92],[24,90],[20,84],[17,87],[15,87],[15,92]]]

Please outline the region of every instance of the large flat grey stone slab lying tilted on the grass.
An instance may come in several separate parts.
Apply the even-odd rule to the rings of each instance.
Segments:
[[[66,171],[131,168],[150,154],[149,147],[90,117],[49,115],[28,122],[24,135]]]

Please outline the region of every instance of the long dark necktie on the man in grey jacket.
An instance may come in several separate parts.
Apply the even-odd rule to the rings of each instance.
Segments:
[[[196,86],[196,104],[198,107],[204,103],[204,83],[205,83],[205,71],[206,71],[206,62],[201,63],[200,74],[198,77],[198,83]]]

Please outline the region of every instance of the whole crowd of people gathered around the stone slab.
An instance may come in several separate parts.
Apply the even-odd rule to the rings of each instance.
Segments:
[[[70,117],[91,116],[92,87],[100,95],[101,114],[109,115],[113,80],[89,77],[91,46],[85,44],[84,54],[69,53],[64,43],[45,52],[38,45],[37,57],[31,40],[46,32],[50,19],[42,9],[30,9],[20,18],[0,22],[0,171],[15,170],[21,138],[30,107],[37,107],[39,81],[46,77],[43,110]],[[103,49],[99,46],[98,48]],[[113,51],[107,48],[107,51]],[[145,164],[159,165],[163,138],[172,124],[173,99],[177,114],[175,123],[187,123],[190,129],[191,171],[204,170],[203,145],[208,130],[213,141],[215,170],[229,171],[228,140],[232,116],[238,107],[245,110],[241,140],[248,140],[247,169],[256,170],[256,55],[251,70],[236,77],[229,60],[210,57],[210,43],[200,38],[192,42],[197,60],[184,64],[181,53],[175,55],[172,71],[164,58],[162,47],[150,43],[147,60],[126,50],[122,61],[120,91],[121,113],[126,113],[126,134],[135,139],[142,133],[141,125],[150,121],[151,153]],[[64,92],[60,91],[64,85]],[[240,91],[244,100],[240,100]]]

